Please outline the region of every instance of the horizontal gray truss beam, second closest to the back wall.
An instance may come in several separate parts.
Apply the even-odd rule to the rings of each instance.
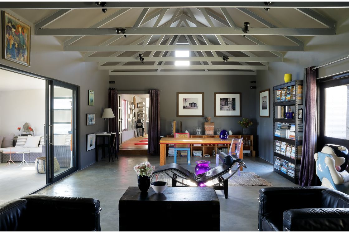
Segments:
[[[98,66],[99,70],[268,70],[268,66],[243,66],[243,65],[129,65],[129,66]]]

